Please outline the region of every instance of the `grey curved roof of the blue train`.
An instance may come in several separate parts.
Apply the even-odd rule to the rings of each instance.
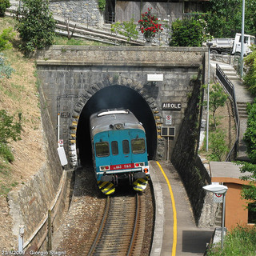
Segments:
[[[142,123],[130,110],[102,110],[90,116],[90,132],[94,136],[102,131],[113,130],[110,125],[122,124],[123,129],[144,130]]]

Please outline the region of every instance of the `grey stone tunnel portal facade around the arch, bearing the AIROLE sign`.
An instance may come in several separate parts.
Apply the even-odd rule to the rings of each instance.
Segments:
[[[58,108],[66,113],[61,118],[61,138],[64,139],[70,164],[77,164],[75,132],[79,114],[86,102],[98,90],[107,86],[129,86],[146,100],[154,113],[158,130],[158,158],[166,158],[166,138],[160,136],[166,115],[172,115],[176,136],[201,67],[201,82],[205,82],[206,48],[197,47],[118,47],[118,46],[51,46],[37,54],[38,77],[46,95],[46,106],[55,125]],[[163,82],[149,90],[147,74],[163,74]],[[61,95],[70,97],[62,98]],[[73,95],[73,96],[72,96]],[[181,110],[164,110],[162,102],[180,102]],[[57,106],[58,105],[58,106]]]

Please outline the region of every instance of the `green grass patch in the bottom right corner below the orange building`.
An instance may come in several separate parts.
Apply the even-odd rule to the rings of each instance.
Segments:
[[[255,256],[256,226],[237,226],[228,233],[223,250],[220,244],[210,249],[207,256]]]

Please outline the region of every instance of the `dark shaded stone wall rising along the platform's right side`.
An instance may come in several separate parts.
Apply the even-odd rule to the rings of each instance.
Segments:
[[[171,162],[178,170],[182,182],[186,188],[186,193],[190,198],[190,203],[194,212],[195,222],[198,224],[206,192],[202,186],[206,185],[206,178],[196,167],[200,114],[202,113],[202,81],[198,78],[194,82],[194,90],[191,93],[187,104],[182,127],[174,147]]]

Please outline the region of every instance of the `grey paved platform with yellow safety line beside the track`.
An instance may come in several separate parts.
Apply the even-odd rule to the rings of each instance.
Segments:
[[[150,162],[150,177],[154,185],[156,222],[154,242],[150,256],[203,255],[214,228],[198,228],[195,225],[189,198],[177,170],[170,162],[160,162],[174,194],[177,211],[177,246],[173,254],[174,216],[173,205],[166,179],[156,162]]]

